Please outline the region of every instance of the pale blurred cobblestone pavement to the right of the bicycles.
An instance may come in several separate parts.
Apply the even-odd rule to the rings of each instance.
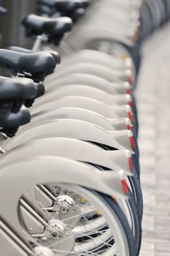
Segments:
[[[144,195],[140,256],[170,255],[170,24],[143,46],[136,98]]]

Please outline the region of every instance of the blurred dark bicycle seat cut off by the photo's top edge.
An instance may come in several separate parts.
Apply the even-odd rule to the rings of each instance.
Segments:
[[[47,5],[48,7],[55,8],[56,11],[61,13],[74,12],[77,9],[87,7],[88,0],[39,0],[39,4]]]

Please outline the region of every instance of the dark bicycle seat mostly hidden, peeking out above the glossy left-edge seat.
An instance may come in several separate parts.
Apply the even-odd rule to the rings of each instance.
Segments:
[[[21,47],[18,47],[18,46],[10,46],[10,47],[7,48],[7,50],[13,50],[13,51],[16,51],[18,53],[34,53],[33,50],[28,50],[26,48],[21,48]],[[61,57],[59,56],[59,54],[55,50],[43,50],[43,51],[38,52],[38,53],[50,53],[53,56],[53,58],[55,59],[56,64],[61,63]]]

